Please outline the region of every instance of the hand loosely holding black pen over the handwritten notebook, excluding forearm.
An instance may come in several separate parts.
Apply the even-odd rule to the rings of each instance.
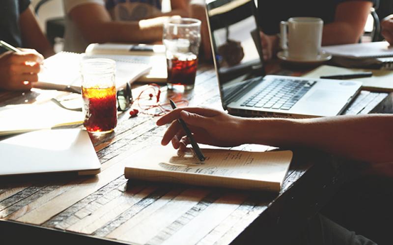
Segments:
[[[157,121],[159,126],[171,123],[161,141],[162,145],[166,146],[171,141],[175,149],[180,147],[184,150],[190,143],[177,121],[179,118],[188,125],[198,143],[219,147],[246,143],[242,126],[244,119],[214,109],[187,107],[177,108]]]

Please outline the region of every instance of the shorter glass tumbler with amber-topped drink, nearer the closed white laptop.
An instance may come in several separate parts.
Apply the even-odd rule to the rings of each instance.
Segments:
[[[89,132],[112,132],[117,124],[116,63],[111,59],[85,59],[81,63],[84,126]]]

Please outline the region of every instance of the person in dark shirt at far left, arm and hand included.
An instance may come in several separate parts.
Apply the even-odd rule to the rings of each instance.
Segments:
[[[13,52],[0,48],[0,89],[29,90],[38,79],[44,56],[54,53],[29,5],[29,0],[1,1],[0,40],[34,49]]]

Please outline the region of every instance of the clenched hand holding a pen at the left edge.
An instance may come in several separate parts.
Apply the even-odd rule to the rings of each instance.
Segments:
[[[0,55],[0,89],[30,90],[38,80],[44,57],[34,49],[7,51]]]

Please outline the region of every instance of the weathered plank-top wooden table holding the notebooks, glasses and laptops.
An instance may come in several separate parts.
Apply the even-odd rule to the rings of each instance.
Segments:
[[[50,98],[58,93],[1,93],[0,105],[31,101],[38,95]],[[162,98],[169,96],[187,98],[190,105],[221,106],[211,66],[199,69],[193,91],[184,95],[163,93]],[[362,91],[346,113],[391,112],[392,101],[392,95]],[[343,170],[339,160],[308,149],[293,149],[294,159],[278,195],[127,181],[124,166],[132,161],[132,155],[161,140],[166,128],[157,127],[156,120],[143,114],[132,119],[123,116],[114,133],[91,137],[102,164],[97,176],[0,178],[0,241],[288,244],[340,184]]]

